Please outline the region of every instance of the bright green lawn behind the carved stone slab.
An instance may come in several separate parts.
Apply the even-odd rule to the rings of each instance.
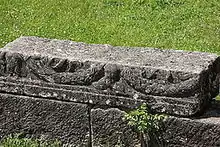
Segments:
[[[19,36],[220,53],[219,0],[0,0],[0,47]]]

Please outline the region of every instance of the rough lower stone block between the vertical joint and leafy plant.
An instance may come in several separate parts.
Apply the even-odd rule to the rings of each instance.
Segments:
[[[116,108],[91,110],[93,147],[140,146],[137,133],[123,120],[124,113]]]

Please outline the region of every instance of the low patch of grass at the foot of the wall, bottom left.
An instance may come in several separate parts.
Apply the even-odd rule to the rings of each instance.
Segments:
[[[0,147],[61,147],[61,142],[47,142],[37,139],[22,138],[20,134],[10,135],[5,138]]]

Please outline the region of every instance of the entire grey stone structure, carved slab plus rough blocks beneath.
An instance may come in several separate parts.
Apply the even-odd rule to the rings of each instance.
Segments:
[[[140,146],[123,115],[146,103],[176,116],[165,122],[164,146],[219,145],[218,123],[200,118],[219,93],[217,55],[38,37],[0,52],[1,139],[22,132],[73,146]]]

